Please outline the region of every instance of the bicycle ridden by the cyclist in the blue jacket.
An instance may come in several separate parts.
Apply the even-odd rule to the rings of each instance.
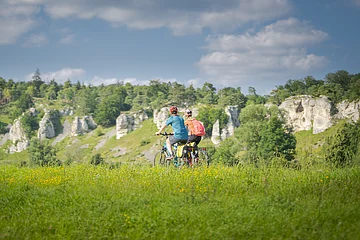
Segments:
[[[160,135],[168,138],[170,135],[173,134],[164,132],[164,133],[160,133]],[[173,159],[169,159],[170,153],[167,150],[166,141],[164,141],[164,144],[162,144],[160,151],[155,154],[153,166],[155,166],[156,164],[167,167],[170,166],[171,164],[173,164],[175,167],[182,167],[183,165],[189,165],[187,158],[183,157],[182,154],[182,148],[185,146],[185,144],[186,144],[185,142],[175,143],[173,145],[173,152],[175,153],[175,156]]]

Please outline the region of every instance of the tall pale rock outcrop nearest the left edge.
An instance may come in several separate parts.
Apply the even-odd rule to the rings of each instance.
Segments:
[[[25,131],[21,126],[20,118],[15,119],[14,124],[10,128],[9,140],[12,145],[9,147],[9,153],[22,152],[27,149],[30,144],[26,137]]]

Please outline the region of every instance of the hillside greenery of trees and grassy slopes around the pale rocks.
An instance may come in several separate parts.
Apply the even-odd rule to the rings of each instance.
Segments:
[[[147,164],[151,161],[150,155],[154,153],[154,149],[159,148],[159,145],[156,145],[158,137],[153,135],[156,131],[155,125],[150,118],[143,123],[141,129],[116,140],[115,122],[120,113],[145,109],[151,115],[155,109],[163,106],[178,105],[185,108],[196,105],[199,107],[198,119],[204,122],[207,129],[206,137],[210,137],[212,124],[217,119],[220,120],[220,128],[227,123],[224,107],[234,105],[241,112],[239,117],[241,126],[235,131],[234,137],[227,139],[217,148],[214,162],[236,165],[243,162],[269,164],[272,161],[285,160],[319,163],[328,160],[334,163],[333,159],[338,157],[326,156],[323,148],[329,149],[332,144],[335,149],[336,144],[342,144],[328,140],[336,130],[329,130],[318,136],[311,136],[308,133],[293,135],[292,130],[284,126],[284,119],[279,118],[281,112],[274,108],[265,108],[263,104],[280,104],[286,97],[299,94],[327,95],[333,103],[345,99],[352,101],[360,96],[359,86],[360,74],[350,74],[344,70],[329,73],[323,80],[316,80],[311,76],[289,80],[284,86],[277,86],[270,95],[265,96],[258,95],[252,87],[245,95],[239,87],[217,90],[208,82],[197,89],[192,85],[165,83],[159,80],[151,80],[149,85],[144,86],[121,82],[109,86],[89,86],[80,82],[72,83],[70,80],[59,84],[55,79],[45,83],[41,79],[40,71],[37,70],[32,81],[29,82],[0,78],[0,134],[6,133],[7,124],[22,115],[21,121],[28,138],[35,138],[44,109],[55,111],[70,109],[74,115],[61,117],[61,123],[72,122],[74,116],[91,115],[98,128],[84,136],[66,137],[53,146],[55,150],[51,150],[53,139],[50,139],[49,143],[34,143],[31,146],[48,149],[49,153],[54,151],[58,160],[68,164],[89,162],[89,159],[97,154],[110,164],[117,162]],[[36,117],[26,113],[31,107],[39,111]],[[59,134],[59,130],[57,131]],[[341,134],[345,136],[348,133],[344,130]],[[211,147],[209,140],[205,138],[204,142]],[[358,143],[358,137],[355,137],[349,144],[352,149],[337,148],[342,151],[341,154],[345,154],[344,156],[356,155],[357,149],[354,146]],[[1,163],[22,164],[29,159],[26,151],[7,154],[6,149],[10,144],[8,141],[1,146]],[[50,146],[46,147],[42,144]],[[32,152],[36,153],[36,151]],[[56,163],[55,160],[52,162]],[[344,160],[346,164],[354,162],[353,157]]]

